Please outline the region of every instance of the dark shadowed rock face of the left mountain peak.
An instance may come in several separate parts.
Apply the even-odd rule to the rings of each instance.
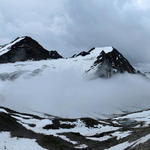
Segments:
[[[62,56],[57,51],[47,51],[32,38],[24,37],[12,45],[7,53],[0,56],[0,63],[58,58],[62,58]]]

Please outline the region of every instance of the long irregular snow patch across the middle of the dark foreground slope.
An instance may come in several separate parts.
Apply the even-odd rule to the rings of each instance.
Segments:
[[[45,130],[43,127],[46,125],[52,124],[52,121],[49,119],[24,119],[22,117],[16,117],[13,116],[18,120],[20,124],[22,124],[25,128],[32,130],[36,133],[42,133],[45,135],[53,135],[53,136],[60,136],[60,133],[67,133],[67,132],[74,132],[74,133],[80,133],[83,136],[92,136],[95,135],[96,133],[102,133],[102,132],[109,132],[109,131],[114,131],[117,130],[118,127],[112,127],[109,125],[103,126],[103,125],[98,125],[96,128],[88,128],[85,126],[85,124],[81,120],[77,120],[76,122],[73,122],[72,124],[75,125],[74,128],[71,129],[49,129]],[[35,127],[30,127],[28,124],[35,124]]]

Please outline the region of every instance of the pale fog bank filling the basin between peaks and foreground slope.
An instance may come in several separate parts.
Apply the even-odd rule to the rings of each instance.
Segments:
[[[70,69],[59,73],[45,72],[28,80],[0,82],[0,103],[21,112],[102,118],[122,111],[149,108],[149,82],[130,74],[87,81]]]

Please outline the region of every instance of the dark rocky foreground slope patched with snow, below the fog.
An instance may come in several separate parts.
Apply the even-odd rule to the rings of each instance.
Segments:
[[[112,119],[67,119],[0,107],[0,149],[149,150],[150,110]]]

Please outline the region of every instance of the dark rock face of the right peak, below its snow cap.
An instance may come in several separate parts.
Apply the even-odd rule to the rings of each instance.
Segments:
[[[96,74],[99,77],[109,78],[116,73],[132,73],[137,71],[132,67],[129,61],[115,48],[111,52],[102,51],[97,57],[90,70],[96,67]]]

